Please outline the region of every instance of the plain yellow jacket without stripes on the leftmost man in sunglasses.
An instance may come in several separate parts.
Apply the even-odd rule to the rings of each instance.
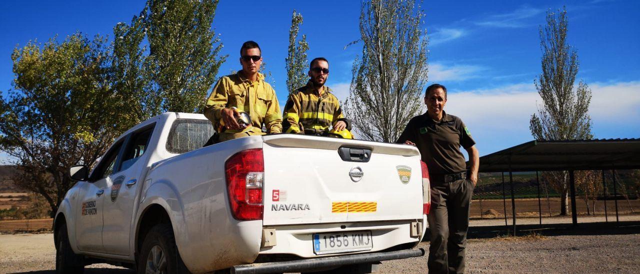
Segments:
[[[264,75],[258,74],[258,80],[252,82],[239,71],[237,74],[223,76],[214,86],[204,109],[204,116],[211,120],[215,129],[220,127],[223,108],[235,106],[251,116],[252,126],[242,131],[227,129],[225,133],[247,132],[249,135],[261,135],[264,123],[267,133],[282,133],[282,117],[276,92]]]

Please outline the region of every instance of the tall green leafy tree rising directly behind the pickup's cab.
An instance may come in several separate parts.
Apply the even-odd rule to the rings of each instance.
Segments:
[[[198,112],[226,56],[211,29],[217,0],[148,0],[142,17],[147,28],[148,72],[159,106],[165,111]]]

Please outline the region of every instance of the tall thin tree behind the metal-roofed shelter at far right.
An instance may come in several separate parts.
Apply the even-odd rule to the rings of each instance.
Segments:
[[[578,54],[567,43],[566,10],[547,12],[547,25],[540,27],[542,73],[534,81],[543,104],[533,114],[529,129],[536,140],[588,140],[591,134],[589,102],[591,90],[582,81],[574,87],[578,74]],[[547,172],[551,186],[561,193],[562,215],[568,207],[568,172]]]

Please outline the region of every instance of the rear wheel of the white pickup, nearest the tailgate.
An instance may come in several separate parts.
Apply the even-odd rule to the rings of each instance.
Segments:
[[[178,254],[171,225],[159,223],[149,230],[138,257],[138,273],[189,273]]]

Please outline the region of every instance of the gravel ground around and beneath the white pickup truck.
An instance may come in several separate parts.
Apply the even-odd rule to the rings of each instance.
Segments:
[[[637,219],[637,218],[636,218]],[[537,219],[536,219],[537,220]],[[585,222],[586,220],[581,220]],[[494,220],[500,223],[500,220]],[[504,225],[504,220],[501,221]],[[472,221],[471,231],[492,225],[486,220]],[[510,222],[509,222],[510,223]],[[525,223],[525,222],[522,222]],[[470,233],[467,245],[468,273],[637,273],[640,269],[640,222],[613,224],[584,223],[580,229],[523,229],[522,237],[486,236]],[[540,233],[550,236],[542,236]],[[52,234],[0,235],[0,273],[53,273],[55,249]],[[490,237],[490,238],[487,238]],[[420,248],[429,249],[429,243]],[[387,261],[379,273],[425,273],[427,257]],[[132,273],[132,271],[93,264],[85,273]]]

